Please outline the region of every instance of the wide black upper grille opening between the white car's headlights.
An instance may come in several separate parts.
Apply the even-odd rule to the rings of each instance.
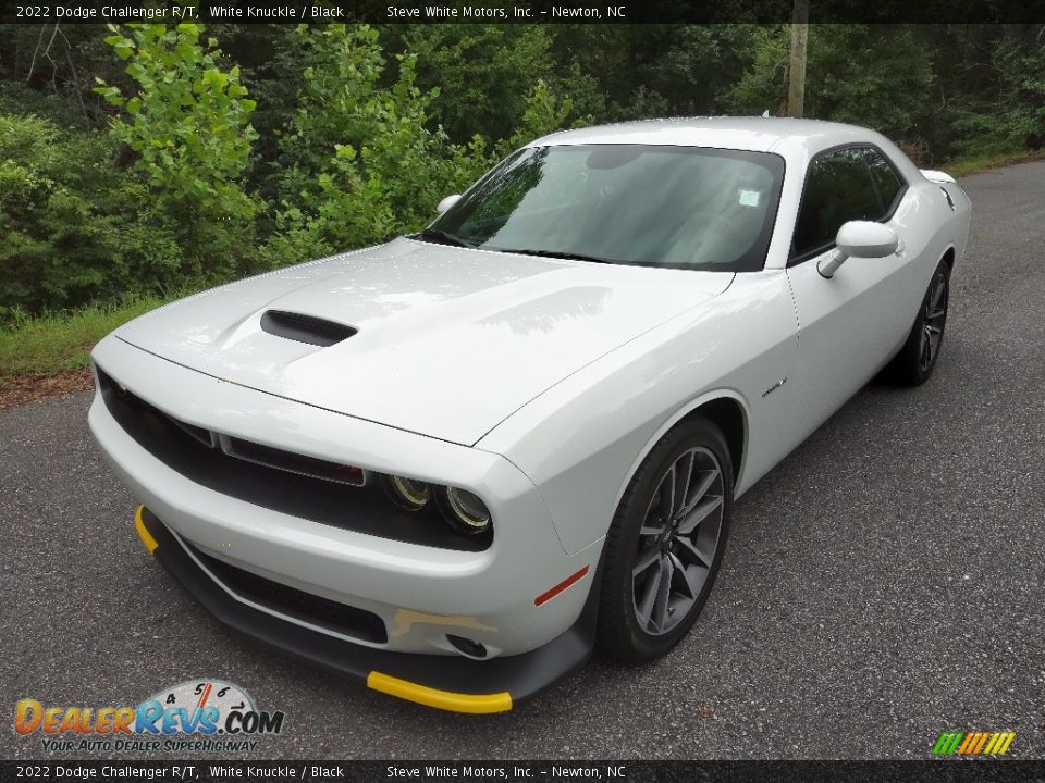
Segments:
[[[200,486],[238,500],[332,527],[441,549],[481,551],[493,533],[462,535],[427,513],[394,506],[378,482],[341,465],[211,433],[169,415],[97,368],[106,408],[142,448]],[[230,453],[226,453],[229,451]],[[281,462],[279,468],[273,467]],[[340,473],[319,475],[318,467]]]

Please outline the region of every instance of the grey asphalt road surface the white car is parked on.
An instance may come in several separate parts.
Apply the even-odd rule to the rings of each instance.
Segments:
[[[932,381],[870,385],[740,500],[671,656],[593,661],[500,717],[225,630],[138,544],[88,395],[0,411],[3,722],[20,698],[137,705],[210,675],[286,712],[255,758],[925,758],[944,730],[1045,757],[1045,163],[962,184],[972,239]],[[44,756],[38,737],[0,731],[0,758]]]

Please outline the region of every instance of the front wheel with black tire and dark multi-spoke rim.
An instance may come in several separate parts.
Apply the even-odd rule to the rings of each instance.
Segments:
[[[674,512],[671,514],[673,521],[663,525],[661,533],[643,533],[657,529],[659,520],[664,515],[662,512],[668,507],[666,498],[672,481],[668,472],[678,477],[677,484],[672,486],[680,485],[690,455],[688,494],[681,493],[680,499],[673,494],[672,508],[680,504],[679,520],[688,522],[706,509],[711,511],[702,518],[703,521],[696,523],[689,535],[680,533],[688,525],[684,521],[674,521]],[[717,482],[711,477],[714,469],[718,471]],[[709,481],[712,483],[705,494],[698,496]],[[721,494],[717,511],[716,493]],[[683,513],[687,502],[692,505],[688,515]],[[692,627],[714,585],[732,517],[733,462],[722,431],[703,418],[677,424],[653,447],[636,471],[606,534],[599,601],[598,647],[601,652],[617,660],[646,661],[664,655],[678,644]],[[714,550],[709,552],[716,518]],[[651,557],[657,560],[644,572],[634,573]],[[662,599],[657,591],[664,573],[668,573],[667,596]],[[676,587],[677,591],[673,592]],[[650,618],[643,623],[640,618],[646,617],[643,609],[651,601],[651,593]],[[661,617],[663,622],[659,624],[654,616]]]

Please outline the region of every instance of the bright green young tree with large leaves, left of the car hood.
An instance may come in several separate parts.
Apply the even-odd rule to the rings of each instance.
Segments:
[[[112,135],[132,151],[132,169],[179,227],[192,265],[222,277],[249,263],[257,202],[244,189],[255,102],[236,65],[224,70],[216,39],[196,24],[111,26],[106,38],[137,86],[130,98],[101,83],[95,91],[123,112]],[[99,79],[100,82],[100,79]]]

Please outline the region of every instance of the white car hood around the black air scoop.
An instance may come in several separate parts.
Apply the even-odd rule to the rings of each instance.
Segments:
[[[116,331],[223,381],[457,444],[734,275],[471,250],[401,238],[183,299]],[[270,310],[354,327],[327,347]]]

